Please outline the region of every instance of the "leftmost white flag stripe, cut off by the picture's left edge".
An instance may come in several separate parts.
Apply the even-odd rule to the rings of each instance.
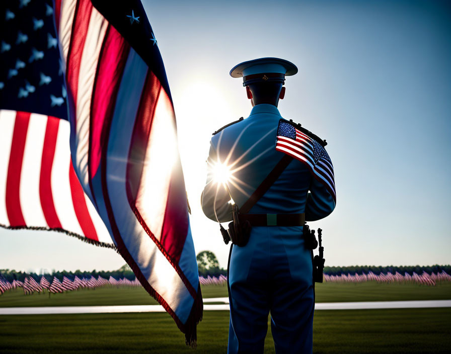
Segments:
[[[0,224],[9,225],[6,211],[6,181],[10,163],[16,111],[0,110]]]

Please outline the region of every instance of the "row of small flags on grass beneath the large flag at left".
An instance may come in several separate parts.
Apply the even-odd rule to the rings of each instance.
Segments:
[[[65,291],[78,290],[80,288],[98,288],[104,285],[114,285],[114,286],[135,286],[139,287],[141,284],[135,278],[134,280],[128,280],[127,278],[115,279],[110,277],[109,279],[102,278],[99,276],[95,278],[91,276],[90,278],[79,278],[75,277],[73,281],[71,281],[67,277],[62,277],[62,282],[53,277],[52,282],[50,283],[45,277],[41,277],[39,283],[33,277],[26,277],[23,282],[19,280],[13,280],[11,283],[7,280],[0,279],[0,294],[3,294],[5,291],[23,288],[24,294],[32,294],[35,292],[43,292],[44,290],[48,290],[50,293],[62,293]]]

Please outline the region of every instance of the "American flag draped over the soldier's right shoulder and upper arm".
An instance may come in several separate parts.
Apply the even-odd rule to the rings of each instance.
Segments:
[[[276,150],[307,165],[336,201],[334,167],[326,149],[316,139],[281,119],[277,127]]]

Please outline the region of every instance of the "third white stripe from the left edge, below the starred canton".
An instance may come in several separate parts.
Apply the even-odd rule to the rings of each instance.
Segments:
[[[60,119],[56,138],[55,157],[52,166],[52,195],[56,214],[63,229],[84,235],[73,210],[69,184],[69,122]]]

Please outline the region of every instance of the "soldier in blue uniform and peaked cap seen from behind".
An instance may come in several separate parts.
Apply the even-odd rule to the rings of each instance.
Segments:
[[[335,185],[325,141],[277,110],[285,76],[296,73],[278,58],[235,66],[230,75],[243,77],[253,109],[210,141],[202,210],[217,222],[234,220],[229,353],[263,352],[269,312],[277,353],[312,352],[312,252],[303,226],[333,211]]]

